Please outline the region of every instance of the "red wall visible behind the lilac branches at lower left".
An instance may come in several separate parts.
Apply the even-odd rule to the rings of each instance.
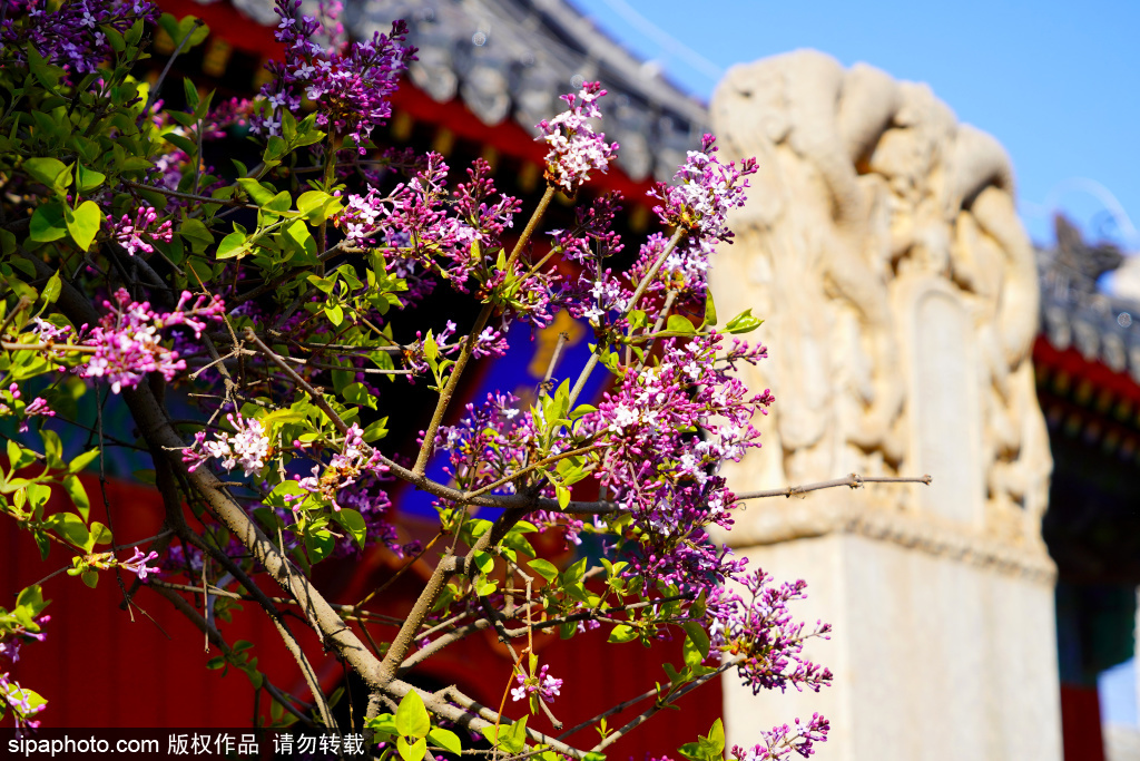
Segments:
[[[85,478],[92,497],[92,518],[104,520],[99,485]],[[157,494],[144,486],[112,481],[108,485],[115,539],[131,542],[158,531],[162,505]],[[49,511],[65,508],[56,495]],[[121,553],[127,557],[128,553]],[[11,520],[0,521],[0,606],[10,607],[15,593],[47,574],[70,565],[63,548],[52,547],[47,561],[27,532]],[[406,574],[408,583],[394,589],[393,598],[377,612],[394,615],[406,612],[413,600],[418,576],[426,567]],[[391,573],[390,562],[378,553],[342,561],[321,580],[336,602],[355,602]],[[124,576],[130,583],[131,574]],[[178,580],[184,581],[184,580]],[[399,583],[397,584],[397,586]],[[189,727],[231,728],[249,726],[253,715],[254,693],[245,675],[237,671],[222,678],[205,663],[218,655],[205,651],[204,638],[155,591],[141,590],[136,601],[147,616],[120,609],[123,596],[114,573],[100,574],[96,589],[79,578],[59,574],[43,583],[44,597],[52,600],[47,613],[47,640],[24,647],[13,677],[42,694],[48,701],[41,714],[50,727]],[[278,593],[274,590],[271,593]],[[244,604],[233,624],[222,624],[223,635],[233,643],[246,639],[258,643],[260,669],[280,688],[304,696],[306,689],[296,665],[268,620],[252,604]],[[150,620],[153,618],[153,621]],[[326,690],[342,680],[341,665],[321,654],[316,638],[299,622],[294,632],[307,645]],[[679,642],[662,642],[652,649],[636,643],[605,645],[606,629],[561,641],[556,635],[536,638],[536,649],[551,673],[565,679],[560,699],[552,706],[555,715],[573,726],[598,710],[633,697],[665,680],[661,663],[681,663]],[[381,640],[385,632],[373,629]],[[457,683],[488,706],[497,707],[511,675],[511,659],[492,633],[481,633],[443,650],[424,664],[422,674],[441,683]],[[510,698],[508,698],[510,699]],[[679,702],[681,712],[666,711],[648,726],[612,748],[611,758],[642,761],[652,755],[674,754],[678,745],[705,734],[720,715],[720,686],[714,682]],[[262,711],[264,711],[262,703]],[[646,707],[642,704],[637,710]],[[619,727],[636,715],[627,710],[610,720]],[[530,726],[548,730],[545,717],[530,719]],[[587,730],[588,731],[588,730]],[[577,738],[586,743],[588,737]]]

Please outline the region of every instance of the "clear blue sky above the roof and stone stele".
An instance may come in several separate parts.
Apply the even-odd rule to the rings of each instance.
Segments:
[[[1059,208],[1091,236],[1140,251],[1098,188],[1140,225],[1138,2],[571,1],[703,99],[715,70],[805,47],[928,82],[1009,151],[1035,241],[1052,241],[1049,209]]]

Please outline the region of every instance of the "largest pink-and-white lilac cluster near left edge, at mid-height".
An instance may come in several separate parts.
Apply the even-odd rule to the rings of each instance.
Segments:
[[[83,345],[95,351],[78,372],[84,378],[106,378],[115,394],[123,387],[138,386],[148,372],[158,372],[168,381],[173,380],[178,371],[186,369],[186,362],[161,343],[161,331],[185,325],[195,338],[201,338],[206,321],[218,319],[223,313],[217,297],[194,299],[189,291],[184,291],[174,310],[165,314],[153,311],[147,301],[131,300],[124,289],[119,289],[114,298],[114,302],[104,301],[108,313],[83,340]]]

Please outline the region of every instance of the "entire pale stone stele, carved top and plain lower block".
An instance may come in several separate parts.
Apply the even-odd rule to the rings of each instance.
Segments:
[[[807,50],[734,67],[711,111],[726,156],[760,167],[712,292],[767,321],[746,381],[776,397],[730,485],[934,477],[740,515],[736,551],[806,580],[800,614],[834,625],[809,651],[836,679],[726,679],[730,743],[819,711],[824,761],[1059,760],[1037,282],[1004,151],[928,87]]]

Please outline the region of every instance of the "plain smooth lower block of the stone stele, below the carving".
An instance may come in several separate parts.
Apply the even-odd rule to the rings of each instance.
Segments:
[[[834,682],[754,697],[726,675],[730,747],[820,712],[831,720],[822,761],[1060,761],[1053,586],[1043,574],[849,533],[736,552],[777,582],[807,582],[792,612],[833,624],[832,639],[806,651]]]

